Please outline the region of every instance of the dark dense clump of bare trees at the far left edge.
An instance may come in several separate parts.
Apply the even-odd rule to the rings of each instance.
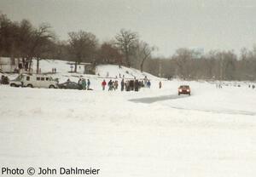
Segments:
[[[0,15],[0,55],[21,58],[24,65],[25,62],[29,64],[26,68],[29,71],[32,58],[36,57],[39,62],[49,53],[52,49],[49,45],[54,43],[54,38],[55,34],[50,31],[49,25],[43,24],[36,28],[29,20],[12,22],[6,15]]]

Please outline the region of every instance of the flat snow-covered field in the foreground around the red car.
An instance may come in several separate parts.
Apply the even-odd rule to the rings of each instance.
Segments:
[[[112,67],[98,71],[119,74]],[[160,78],[148,75],[150,89],[108,92],[102,77],[84,77],[94,90],[0,86],[2,167],[92,167],[101,169],[98,176],[127,177],[255,175],[256,90],[246,83],[216,88],[162,80],[159,89]],[[191,96],[177,96],[183,83]]]

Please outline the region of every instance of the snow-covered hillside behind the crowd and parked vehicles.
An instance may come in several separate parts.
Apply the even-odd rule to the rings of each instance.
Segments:
[[[70,68],[70,65],[67,65],[67,63],[68,61],[66,60],[40,60],[39,68],[41,69],[42,74],[48,74],[54,78],[58,78],[60,83],[66,82],[68,78],[74,82],[77,82],[81,77],[86,79],[89,78],[90,80],[93,81],[92,84],[102,83],[102,79],[106,78],[107,76],[109,79],[117,78],[116,80],[119,80],[119,81],[123,76],[125,77],[125,79],[133,79],[134,77],[136,77],[137,79],[143,79],[144,77],[148,77],[150,79],[159,80],[158,77],[154,77],[153,75],[147,72],[137,71],[136,69],[127,68],[125,66],[122,66],[121,68],[119,68],[119,66],[114,66],[114,65],[96,66],[96,75],[85,75],[84,66],[78,65],[78,72],[73,73],[73,72],[70,72],[72,69]],[[51,73],[53,68],[56,69],[56,73],[54,74]],[[36,70],[37,70],[36,60],[33,60],[32,71],[35,72]],[[0,73],[0,77],[2,75],[3,74]],[[18,74],[8,74],[8,77],[10,79],[15,79],[15,77],[17,76]],[[94,85],[92,85],[92,88],[93,87]],[[97,86],[94,88],[97,89]]]

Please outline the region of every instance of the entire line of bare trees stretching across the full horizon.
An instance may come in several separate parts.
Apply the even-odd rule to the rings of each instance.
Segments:
[[[121,29],[113,39],[99,43],[88,31],[68,32],[60,40],[49,24],[33,26],[29,20],[9,20],[0,14],[0,56],[19,58],[29,70],[32,59],[71,60],[74,71],[81,62],[94,65],[116,64],[148,71],[160,77],[182,79],[255,80],[256,46],[253,49],[210,51],[198,54],[191,49],[177,49],[169,58],[154,57],[157,48],[140,39],[136,31]],[[38,71],[38,70],[37,70]]]

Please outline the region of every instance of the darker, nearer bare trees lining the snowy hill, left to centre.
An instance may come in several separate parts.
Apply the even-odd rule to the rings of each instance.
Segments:
[[[9,20],[0,14],[0,56],[19,58],[29,70],[32,59],[71,60],[74,71],[81,62],[98,64],[118,64],[134,66],[134,59],[143,71],[145,60],[154,50],[148,43],[140,40],[137,32],[121,29],[113,40],[99,43],[96,35],[88,31],[68,32],[68,40],[59,40],[49,24],[38,27],[29,20],[19,22]]]

